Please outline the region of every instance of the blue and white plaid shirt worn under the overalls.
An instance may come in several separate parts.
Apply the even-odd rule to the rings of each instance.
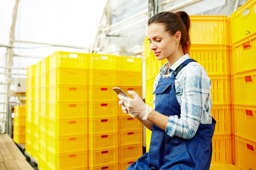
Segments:
[[[189,54],[177,60],[177,62],[170,67],[168,74],[168,63],[166,62],[161,68],[160,72],[155,78],[153,91],[158,84],[161,76],[164,78],[171,77],[172,70],[189,59]],[[204,68],[197,62],[190,62],[186,67],[182,68],[175,79],[175,92],[177,101],[180,104],[181,114],[180,119],[177,115],[169,116],[169,121],[166,127],[166,133],[173,137],[178,136],[183,139],[191,139],[200,123],[212,123],[211,107],[211,80]],[[168,101],[166,99],[166,101]],[[153,99],[153,106],[155,108],[155,95]]]

